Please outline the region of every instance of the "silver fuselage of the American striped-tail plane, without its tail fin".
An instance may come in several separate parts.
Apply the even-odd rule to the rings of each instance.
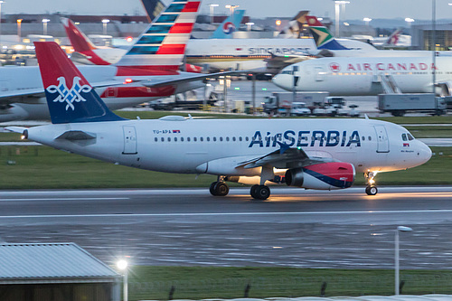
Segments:
[[[116,66],[78,66],[78,69],[93,86],[97,83],[118,82],[118,86],[97,88],[99,96],[105,101],[108,108],[119,109],[132,107],[137,104],[165,98],[175,93],[181,93],[191,89],[204,86],[202,81],[193,81],[165,86],[161,88],[146,88],[139,83],[122,84],[125,80],[158,80],[174,79],[179,75],[159,76],[117,76]],[[190,73],[180,72],[183,76],[192,76]],[[0,68],[0,97],[2,95],[20,94],[25,95],[29,91],[42,90],[41,73],[38,67],[2,67]],[[49,109],[45,97],[14,96],[11,108],[0,110],[0,122],[17,119],[50,119]],[[8,99],[6,99],[8,100]],[[11,103],[11,101],[7,101]]]

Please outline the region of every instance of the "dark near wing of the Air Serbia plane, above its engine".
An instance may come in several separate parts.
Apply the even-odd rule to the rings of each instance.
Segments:
[[[280,144],[280,143],[279,143]],[[300,147],[288,147],[280,144],[281,148],[269,153],[240,162],[236,167],[255,168],[264,165],[274,166],[276,168],[297,168],[307,165],[315,165],[327,162],[334,162],[334,159],[327,157],[309,157]]]

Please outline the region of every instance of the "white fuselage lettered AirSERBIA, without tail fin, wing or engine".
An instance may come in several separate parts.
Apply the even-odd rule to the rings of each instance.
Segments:
[[[56,138],[70,130],[90,140]],[[28,129],[28,138],[47,146],[147,170],[182,174],[256,176],[260,167],[241,162],[278,150],[301,147],[310,158],[354,165],[356,172],[388,172],[428,161],[428,146],[407,146],[400,126],[368,119],[189,119],[126,120],[50,125]],[[405,145],[404,145],[405,143]]]

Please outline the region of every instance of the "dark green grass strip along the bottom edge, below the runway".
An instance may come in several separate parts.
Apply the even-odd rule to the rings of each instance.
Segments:
[[[401,274],[405,295],[452,294],[452,273]],[[132,300],[239,297],[363,296],[394,294],[392,274],[359,277],[253,277],[205,280],[132,282]]]

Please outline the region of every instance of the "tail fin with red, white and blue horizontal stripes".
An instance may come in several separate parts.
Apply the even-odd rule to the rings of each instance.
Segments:
[[[118,76],[130,68],[136,75],[165,75],[177,71],[184,59],[200,1],[175,0],[141,34],[136,44],[116,64]]]

